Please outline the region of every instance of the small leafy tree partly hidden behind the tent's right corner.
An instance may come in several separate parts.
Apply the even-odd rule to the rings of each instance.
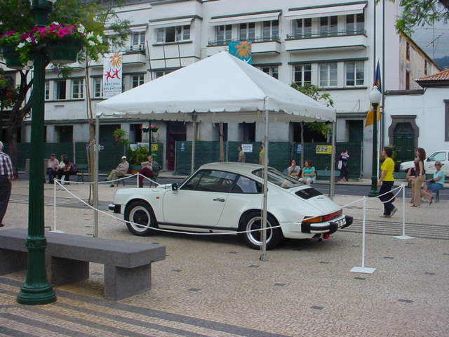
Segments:
[[[319,89],[319,87],[315,86],[314,84],[304,84],[304,86],[300,86],[299,84],[293,83],[292,88],[295,88],[297,91],[304,93],[304,95],[307,95],[310,98],[313,98],[314,100],[326,103],[326,106],[328,106],[328,107],[334,106],[334,101],[332,98],[330,98],[330,94],[323,93]],[[330,131],[330,127],[320,121],[313,121],[311,123],[305,123],[305,124],[302,121],[300,122],[301,145],[302,145],[301,166],[304,166],[304,126],[309,128],[309,130],[311,130],[311,131],[316,131],[316,132],[322,133],[323,135]]]

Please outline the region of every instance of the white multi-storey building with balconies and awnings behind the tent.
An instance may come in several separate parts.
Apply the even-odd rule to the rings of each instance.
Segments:
[[[406,89],[412,78],[438,68],[405,35],[396,34],[398,4],[385,1],[385,90]],[[376,8],[376,9],[375,9]],[[374,20],[376,11],[376,22]],[[363,167],[370,174],[371,128],[363,122],[369,108],[377,60],[382,65],[382,4],[375,0],[335,2],[241,0],[128,0],[117,8],[131,20],[128,46],[123,50],[123,90],[225,51],[232,40],[253,41],[253,65],[286,84],[316,84],[330,93],[337,109],[337,141],[363,141]],[[408,51],[408,52],[407,52]],[[72,77],[60,79],[48,72],[46,84],[46,138],[48,142],[86,141],[85,70],[74,65]],[[213,77],[213,74],[210,74]],[[90,88],[93,106],[102,100],[102,61],[92,62]],[[408,78],[408,80],[407,80]],[[115,128],[129,132],[131,142],[145,141],[142,121],[102,122],[102,135]],[[107,125],[109,124],[109,126]],[[173,169],[174,143],[191,140],[190,125],[157,122],[157,138],[165,143],[166,169]],[[385,126],[386,128],[388,126]],[[296,124],[272,124],[270,139],[299,140]],[[29,141],[25,123],[24,141]],[[199,126],[201,140],[217,140],[217,127]],[[260,141],[263,126],[229,124],[225,138]]]

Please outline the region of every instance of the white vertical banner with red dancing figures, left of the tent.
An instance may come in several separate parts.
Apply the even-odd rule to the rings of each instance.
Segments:
[[[121,53],[109,53],[103,58],[103,98],[121,93],[122,65]]]

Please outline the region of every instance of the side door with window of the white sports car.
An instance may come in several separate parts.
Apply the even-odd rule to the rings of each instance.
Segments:
[[[184,225],[207,230],[215,227],[222,216],[236,174],[201,170],[177,191],[163,197],[161,225]]]

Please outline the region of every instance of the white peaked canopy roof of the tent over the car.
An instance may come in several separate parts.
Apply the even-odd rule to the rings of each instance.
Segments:
[[[104,100],[99,116],[154,120],[251,122],[335,121],[335,109],[235,58],[217,53]]]

